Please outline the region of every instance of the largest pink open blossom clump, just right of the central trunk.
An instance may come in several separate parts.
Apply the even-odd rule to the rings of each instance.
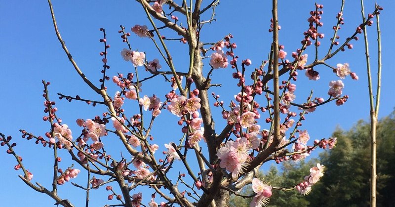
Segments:
[[[217,156],[221,160],[220,167],[226,168],[232,172],[232,177],[237,177],[248,164],[248,158],[251,145],[245,137],[237,138],[236,141],[228,141],[225,147],[221,147]]]

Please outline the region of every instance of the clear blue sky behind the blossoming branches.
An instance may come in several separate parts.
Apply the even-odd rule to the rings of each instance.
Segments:
[[[206,1],[203,1],[206,4]],[[242,2],[242,3],[240,3]],[[262,60],[267,59],[270,50],[271,33],[268,33],[271,18],[271,6],[268,1],[221,1],[216,8],[216,22],[211,25],[205,25],[201,32],[201,41],[215,42],[221,40],[229,33],[234,35],[233,41],[237,43],[235,53],[240,60],[249,58],[252,65],[248,69],[252,70],[258,67]],[[309,11],[314,9],[313,0],[280,0],[279,2],[279,24],[280,44],[285,45],[285,51],[288,52],[288,58],[292,51],[301,47],[300,41],[303,38],[303,31],[307,30]],[[53,30],[52,20],[48,4],[45,0],[32,1],[5,1],[0,0],[0,94],[2,118],[0,120],[0,132],[6,135],[12,135],[14,141],[18,143],[15,148],[16,152],[24,158],[25,166],[34,173],[34,182],[40,182],[45,186],[50,186],[50,176],[52,167],[52,154],[48,148],[42,148],[34,144],[33,141],[21,138],[19,129],[26,129],[36,135],[44,135],[50,126],[42,122],[43,97],[41,80],[46,80],[52,84],[49,86],[50,98],[57,102],[56,107],[59,109],[58,116],[62,118],[64,124],[68,124],[77,136],[81,128],[75,124],[78,118],[89,119],[95,115],[101,115],[106,109],[100,106],[93,108],[85,103],[73,101],[68,103],[66,100],[59,100],[56,93],[60,92],[67,95],[80,95],[83,98],[100,100],[88,86],[78,77],[74,68],[68,61],[64,51]],[[322,22],[324,27],[322,32],[325,38],[321,41],[320,55],[322,57],[327,51],[329,38],[333,35],[332,26],[335,25],[335,16],[340,9],[340,0],[324,1],[324,14]],[[393,78],[390,62],[392,60],[395,48],[392,34],[395,32],[392,23],[394,22],[394,1],[378,1],[384,7],[381,21],[382,32],[382,55],[383,55],[383,72],[382,72],[382,99],[379,117],[390,114],[394,109],[394,96],[392,92]],[[181,3],[180,3],[181,4]],[[145,18],[141,6],[132,0],[118,1],[57,1],[53,2],[55,15],[59,30],[66,42],[70,52],[79,64],[85,75],[96,85],[99,85],[102,68],[102,57],[99,52],[103,50],[103,45],[99,42],[102,33],[99,28],[105,28],[107,31],[107,42],[111,44],[108,50],[109,65],[111,69],[108,74],[116,75],[117,72],[127,74],[134,71],[130,63],[123,61],[119,52],[126,44],[121,41],[118,34],[119,25],[124,25],[127,31],[135,24],[149,25]],[[167,8],[167,7],[165,7]],[[366,12],[373,11],[374,1],[365,1]],[[181,15],[179,15],[181,16]],[[208,17],[207,15],[206,17]],[[340,42],[345,41],[346,37],[355,32],[355,28],[361,23],[360,6],[358,0],[346,0],[344,11],[345,25],[339,32]],[[161,26],[161,24],[158,24]],[[149,27],[150,28],[150,27]],[[370,38],[371,64],[373,69],[373,81],[375,82],[375,71],[377,69],[377,44],[376,31],[372,26],[368,30]],[[177,38],[171,32],[163,31],[163,34],[169,38]],[[353,41],[354,49],[346,49],[327,63],[336,66],[337,63],[349,63],[351,70],[359,76],[359,81],[351,80],[348,77],[344,83],[343,94],[350,96],[349,100],[343,106],[336,106],[335,103],[329,103],[320,107],[316,112],[307,116],[301,129],[307,129],[312,139],[329,137],[333,130],[340,126],[349,129],[359,119],[367,120],[369,117],[369,105],[367,94],[367,78],[364,58],[363,37],[359,35],[360,41]],[[133,49],[147,52],[147,58],[152,60],[158,58],[158,52],[149,39],[141,39],[132,34],[130,41]],[[188,67],[187,45],[172,41],[168,43],[170,52],[173,55],[176,68],[180,71],[186,71]],[[308,63],[312,62],[314,49],[311,47],[307,50],[311,55]],[[207,59],[205,60],[208,61]],[[162,66],[165,64],[162,63]],[[141,68],[142,69],[142,68]],[[168,70],[163,68],[163,70]],[[209,68],[204,68],[208,71]],[[316,82],[309,81],[303,73],[300,73],[297,84],[297,102],[304,102],[310,93],[314,90],[314,97],[327,97],[328,83],[332,80],[339,80],[330,69],[324,66],[316,67],[320,73],[320,79]],[[221,100],[229,103],[233,100],[233,95],[237,93],[236,80],[230,79],[234,71],[229,67],[227,69],[216,70],[213,73],[212,83],[223,83],[221,88],[213,88],[212,91],[221,95]],[[250,73],[250,72],[248,72]],[[140,73],[142,77],[149,76],[143,70]],[[229,78],[229,79],[228,79]],[[284,80],[285,78],[280,78]],[[115,94],[117,87],[109,83],[109,94]],[[170,91],[170,84],[163,83],[162,78],[151,80],[143,84],[143,94],[151,96],[157,94],[162,100],[164,94]],[[129,106],[129,108],[127,108]],[[125,105],[129,117],[137,113],[135,103]],[[221,111],[218,108],[213,109],[217,124],[217,130],[220,130],[226,123],[221,118]],[[266,114],[262,116],[266,118]],[[268,126],[263,124],[263,128]],[[112,124],[110,124],[112,125]],[[110,126],[109,125],[109,126]],[[181,128],[177,125],[177,118],[167,111],[163,111],[158,117],[155,125],[157,130],[153,135],[160,146],[158,154],[164,150],[163,143],[179,139]],[[119,157],[117,151],[118,139],[114,136],[106,137],[105,144],[107,149],[114,150],[113,157]],[[204,145],[204,144],[203,144]],[[341,147],[341,146],[340,146]],[[3,188],[0,194],[0,206],[51,206],[54,203],[49,197],[34,192],[17,177],[20,171],[13,170],[16,161],[12,156],[5,153],[5,148],[0,148],[0,186]],[[117,154],[118,153],[118,154]],[[312,156],[316,156],[314,152]],[[67,168],[70,163],[67,162],[68,154],[61,152],[60,155],[64,161],[60,163],[62,168]],[[159,155],[160,157],[160,155]],[[268,164],[267,166],[270,166]],[[266,166],[266,167],[267,167]],[[77,167],[81,168],[81,167]],[[176,170],[177,171],[177,170]],[[302,178],[301,178],[302,179]],[[86,176],[81,173],[80,176],[73,180],[81,185],[85,185]],[[72,187],[70,183],[59,186],[59,194],[62,198],[73,197],[71,201],[76,206],[81,206],[84,200],[84,191]],[[119,192],[119,191],[118,191]],[[145,201],[148,201],[152,191],[144,191]],[[106,202],[108,192],[104,188],[92,191],[91,206],[103,206]],[[161,201],[157,199],[157,201]],[[147,202],[146,202],[147,204]]]

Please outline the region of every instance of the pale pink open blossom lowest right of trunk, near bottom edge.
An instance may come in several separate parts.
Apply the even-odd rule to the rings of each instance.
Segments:
[[[262,207],[269,204],[269,198],[272,196],[272,186],[254,178],[252,179],[252,190],[256,193],[256,196],[252,199],[250,207]]]

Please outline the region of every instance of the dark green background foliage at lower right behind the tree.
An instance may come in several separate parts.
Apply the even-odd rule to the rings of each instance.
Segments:
[[[358,121],[349,131],[337,128],[333,133],[338,142],[332,150],[320,153],[309,162],[284,162],[279,171],[271,166],[261,178],[272,186],[295,185],[309,174],[310,167],[326,166],[324,176],[313,186],[308,196],[296,190],[277,191],[269,206],[366,207],[369,206],[370,125]],[[395,111],[378,123],[377,128],[377,207],[395,207]],[[251,186],[240,194],[252,195]],[[251,199],[232,196],[231,206],[247,207]]]

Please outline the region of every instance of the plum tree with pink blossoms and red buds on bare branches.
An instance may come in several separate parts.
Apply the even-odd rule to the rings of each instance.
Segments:
[[[309,156],[316,148],[332,149],[335,146],[336,137],[312,142],[308,130],[300,128],[305,116],[314,113],[318,107],[330,102],[340,106],[347,101],[349,96],[342,95],[344,83],[337,79],[350,76],[358,80],[358,76],[351,72],[348,63],[332,67],[325,61],[345,49],[352,49],[351,42],[358,40],[357,35],[365,31],[382,10],[376,5],[372,13],[357,26],[356,31],[350,32],[350,36],[340,43],[337,32],[343,24],[343,0],[340,11],[335,15],[337,24],[333,26],[329,49],[319,58],[320,39],[324,38],[324,34],[318,32],[323,26],[320,21],[323,5],[312,5],[314,9],[310,12],[300,48],[286,52],[285,46],[279,44],[281,27],[277,17],[277,0],[273,0],[269,29],[273,33],[273,42],[268,49],[268,59],[251,69],[253,62],[250,59],[238,60],[237,44],[232,41],[231,34],[222,40],[213,40],[213,43],[202,42],[200,39],[204,35],[205,26],[215,21],[215,8],[219,6],[219,0],[206,5],[203,5],[202,0],[183,0],[180,4],[173,0],[137,0],[136,3],[142,6],[151,25],[135,25],[130,30],[138,38],[150,39],[160,56],[152,57],[137,48],[133,49],[129,39],[134,37],[131,37],[124,26],[120,26],[118,32],[126,48],[119,48],[119,58],[130,62],[134,73],[110,76],[107,58],[110,45],[106,40],[106,30],[101,28],[103,38],[100,42],[103,43],[104,51],[100,55],[103,56],[103,69],[99,85],[96,85],[84,75],[68,50],[57,27],[51,0],[48,3],[56,35],[67,57],[83,82],[102,100],[88,100],[60,93],[59,98],[82,101],[93,106],[100,104],[107,110],[101,111],[100,116],[93,119],[76,117],[76,124],[82,129],[81,133],[73,133],[69,128],[70,122],[68,121],[69,125],[62,124],[57,116],[56,103],[48,93],[50,83],[42,81],[46,113],[43,121],[50,124],[50,130],[45,132],[44,137],[27,130],[21,132],[23,138],[35,139],[36,143],[53,149],[52,189],[33,182],[33,174],[16,154],[16,144],[11,142],[11,136],[0,135],[1,145],[7,147],[7,153],[17,161],[15,169],[23,171],[23,175],[19,177],[34,190],[53,198],[57,205],[66,207],[74,205],[58,195],[57,187],[77,177],[82,170],[87,171],[88,185],[73,185],[86,191],[86,206],[89,206],[89,192],[104,188],[104,185],[111,192],[107,199],[113,200],[115,196],[119,201],[118,204],[108,206],[125,207],[228,206],[231,194],[253,197],[250,207],[260,207],[270,202],[273,190],[296,190],[308,194],[312,185],[324,175],[325,167],[320,164],[313,166],[310,174],[302,177],[300,183],[286,187],[271,186],[270,180],[257,179],[257,172],[268,162],[297,162]],[[203,20],[203,14],[210,10],[211,18]],[[158,23],[163,26],[158,27]],[[162,35],[162,30],[172,31],[178,38],[167,38]],[[166,41],[174,40],[188,44],[190,59],[186,71],[177,70],[178,67],[173,62],[176,57],[171,55],[166,46]],[[306,53],[310,47],[315,49],[315,55],[308,56]],[[287,55],[288,53],[291,55]],[[312,56],[313,60],[310,61]],[[294,92],[298,74],[305,74],[309,80],[316,81],[319,72],[314,68],[319,65],[329,67],[334,72],[336,80],[329,83],[329,97],[326,100],[314,97],[312,91],[305,102],[296,102]],[[211,83],[211,75],[215,70],[228,70],[229,78],[233,78],[238,87],[237,91],[232,91],[235,94],[234,100],[227,100],[229,105],[220,100],[219,95],[213,92],[210,95],[210,88],[221,86]],[[146,77],[142,78],[144,72]],[[166,94],[144,94],[142,83],[159,77],[169,82],[172,90]],[[279,77],[284,77],[284,81],[279,82]],[[114,96],[110,95],[114,93],[107,89],[108,84],[117,85],[119,91]],[[127,115],[129,109],[125,107],[125,102],[134,103],[137,113]],[[222,120],[214,120],[213,106],[221,109]],[[151,131],[155,130],[156,118],[162,113],[174,115],[180,128],[172,130],[181,130],[183,137],[178,142],[170,140],[168,144],[159,146]],[[215,122],[226,124],[225,127],[218,128]],[[118,149],[105,148],[106,137],[118,137],[124,148],[121,159],[111,156],[118,153]],[[163,153],[156,153],[159,149]],[[60,150],[67,151],[78,167],[72,165],[65,170],[60,168],[61,159],[57,156]],[[192,162],[197,163],[197,167],[192,166]],[[182,163],[184,168],[175,168],[176,163]],[[248,184],[252,184],[254,194],[240,195],[238,190]],[[148,186],[152,192],[151,197],[142,192],[131,193],[144,186]],[[143,197],[149,197],[149,202],[144,204]]]

